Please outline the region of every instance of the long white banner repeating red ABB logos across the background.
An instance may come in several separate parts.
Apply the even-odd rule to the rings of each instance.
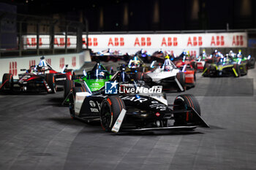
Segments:
[[[36,48],[37,37],[23,36],[24,48]],[[39,48],[49,48],[50,36],[39,36]],[[83,48],[88,43],[92,50],[121,50],[136,53],[140,49],[153,53],[156,50],[182,50],[198,53],[200,47],[247,47],[246,33],[200,33],[200,34],[90,34],[88,42],[83,35]],[[55,36],[54,47],[65,47],[65,36]],[[76,47],[76,36],[67,36],[67,47]]]

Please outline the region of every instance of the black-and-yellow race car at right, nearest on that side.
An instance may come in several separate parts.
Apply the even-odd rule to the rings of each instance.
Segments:
[[[203,77],[240,77],[247,74],[246,63],[233,62],[231,59],[219,58],[217,63],[206,63],[206,68],[203,71]]]

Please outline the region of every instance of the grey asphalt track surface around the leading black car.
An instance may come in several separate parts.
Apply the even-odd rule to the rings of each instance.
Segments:
[[[192,93],[211,128],[113,134],[69,117],[56,94],[0,95],[0,169],[256,169],[256,69],[197,74]],[[167,93],[173,102],[178,93]]]

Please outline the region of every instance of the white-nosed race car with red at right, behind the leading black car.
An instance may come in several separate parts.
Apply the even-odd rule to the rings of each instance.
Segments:
[[[142,76],[148,85],[162,85],[164,90],[177,89],[179,92],[186,90],[187,87],[195,87],[195,69],[185,64],[177,68],[172,61],[170,65],[162,64],[159,66],[157,61],[151,63],[152,71],[146,72]]]

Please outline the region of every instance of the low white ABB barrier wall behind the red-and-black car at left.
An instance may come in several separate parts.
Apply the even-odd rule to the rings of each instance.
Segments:
[[[66,55],[45,55],[45,60],[50,63],[57,72],[61,72],[65,64],[69,65],[69,69],[76,70],[80,69],[86,61],[85,53],[87,52]],[[40,61],[40,57],[41,56],[0,59],[0,82],[4,73],[11,73],[15,79],[18,79],[18,74],[24,73],[24,71],[20,71],[20,69],[29,69],[30,66],[37,65]]]

